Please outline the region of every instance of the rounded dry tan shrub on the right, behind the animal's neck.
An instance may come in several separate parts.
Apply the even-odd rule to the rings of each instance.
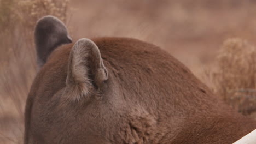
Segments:
[[[224,42],[210,74],[214,91],[244,115],[256,110],[256,51],[246,40]]]

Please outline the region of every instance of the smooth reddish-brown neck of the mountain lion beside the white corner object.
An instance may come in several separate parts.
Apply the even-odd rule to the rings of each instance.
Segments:
[[[233,143],[255,127],[255,121],[238,114],[197,117],[185,122],[172,143]]]

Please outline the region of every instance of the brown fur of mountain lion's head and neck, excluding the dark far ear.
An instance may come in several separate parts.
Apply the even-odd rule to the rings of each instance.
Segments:
[[[256,128],[159,47],[130,38],[91,41],[56,47],[38,72],[25,144],[232,143]],[[71,73],[86,84],[73,91],[90,88],[86,97],[72,100]]]

